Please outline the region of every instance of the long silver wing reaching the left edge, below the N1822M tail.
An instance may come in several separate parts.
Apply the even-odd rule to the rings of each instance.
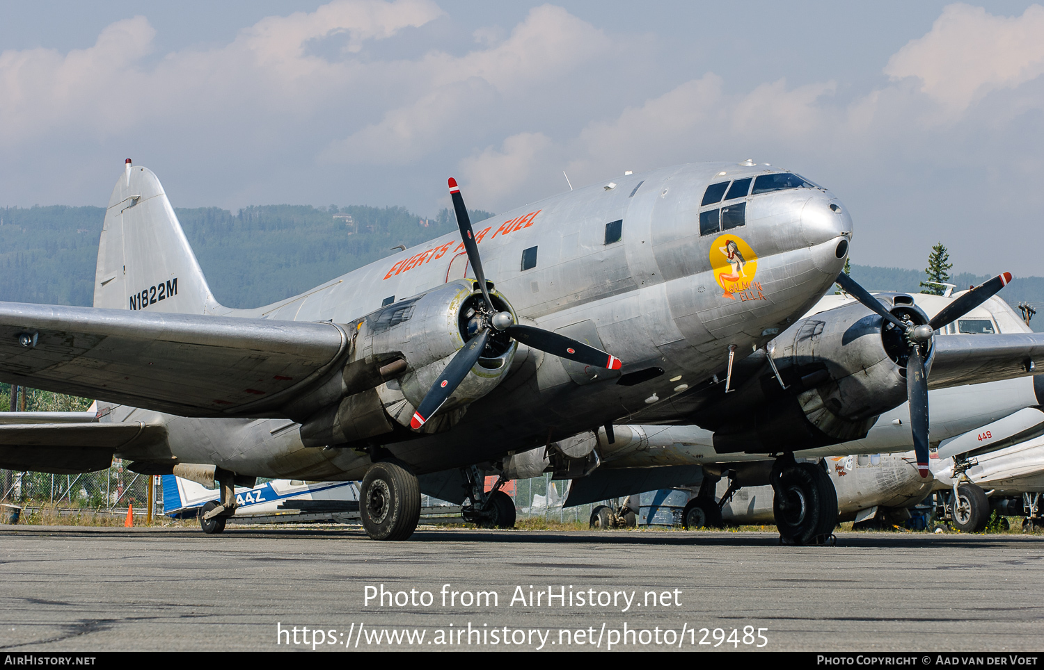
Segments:
[[[279,416],[349,345],[330,322],[0,302],[0,380],[182,416]]]

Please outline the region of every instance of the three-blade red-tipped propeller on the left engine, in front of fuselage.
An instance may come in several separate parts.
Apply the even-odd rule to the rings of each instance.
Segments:
[[[468,376],[468,371],[478,363],[490,338],[497,332],[503,332],[526,346],[563,358],[598,368],[619,370],[622,365],[620,359],[601,349],[596,349],[550,330],[515,323],[511,312],[497,309],[490,297],[485,273],[482,271],[482,260],[478,255],[478,244],[471,227],[468,208],[464,205],[460,187],[452,177],[450,177],[449,187],[450,198],[453,200],[453,212],[456,214],[457,227],[460,229],[464,248],[468,253],[468,262],[475,272],[475,279],[478,281],[485,304],[481,305],[481,308],[477,309],[469,321],[468,333],[472,336],[471,339],[468,340],[462,349],[453,355],[453,359],[428,390],[417,412],[413,413],[413,418],[409,422],[410,427],[420,428],[438,412],[440,407],[449,400],[456,388]]]

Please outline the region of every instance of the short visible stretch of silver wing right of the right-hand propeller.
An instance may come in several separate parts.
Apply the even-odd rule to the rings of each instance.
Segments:
[[[1036,361],[1044,364],[1042,332],[935,338],[935,357],[928,373],[928,388],[1022,377],[1030,373]],[[1039,372],[1044,372],[1044,368]]]

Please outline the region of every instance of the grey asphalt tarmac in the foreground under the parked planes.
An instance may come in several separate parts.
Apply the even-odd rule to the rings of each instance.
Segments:
[[[1044,646],[1044,537],[837,540],[785,547],[767,532],[423,528],[379,543],[343,526],[215,537],[0,526],[0,649]],[[383,606],[380,585],[393,592]],[[476,603],[476,592],[496,602]]]

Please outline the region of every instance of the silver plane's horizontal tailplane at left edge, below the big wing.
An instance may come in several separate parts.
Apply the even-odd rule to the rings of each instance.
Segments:
[[[3,424],[0,468],[53,474],[104,470],[118,449],[165,435],[163,426],[139,422]]]

